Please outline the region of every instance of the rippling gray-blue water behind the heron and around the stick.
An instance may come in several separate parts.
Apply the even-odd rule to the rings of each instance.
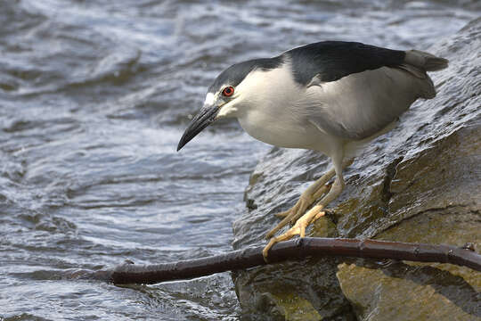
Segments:
[[[269,147],[224,121],[175,152],[228,65],[326,39],[427,49],[480,3],[0,0],[0,319],[240,319],[228,273],[69,276],[232,250]]]

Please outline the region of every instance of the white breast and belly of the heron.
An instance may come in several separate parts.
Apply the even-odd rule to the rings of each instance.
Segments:
[[[329,139],[311,124],[298,103],[305,89],[295,83],[289,62],[274,70],[255,70],[238,86],[240,126],[250,136],[280,147],[306,148],[329,154]]]

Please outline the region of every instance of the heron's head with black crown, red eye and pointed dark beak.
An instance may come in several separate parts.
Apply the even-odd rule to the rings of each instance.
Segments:
[[[249,74],[272,70],[280,65],[281,57],[274,57],[236,63],[224,70],[208,88],[204,105],[185,129],[177,151],[217,119],[236,117],[249,107],[250,98],[256,95],[256,78],[248,77]]]

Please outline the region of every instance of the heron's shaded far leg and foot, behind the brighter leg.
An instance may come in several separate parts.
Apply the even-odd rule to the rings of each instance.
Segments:
[[[309,190],[302,193],[301,197],[299,198],[296,205],[294,205],[289,210],[283,211],[281,213],[275,214],[276,216],[283,218],[281,222],[275,226],[267,235],[265,235],[266,239],[273,237],[282,227],[286,226],[287,224],[294,224],[311,206],[315,200],[321,198],[321,196],[330,190],[330,185],[322,185],[315,193],[310,193]]]

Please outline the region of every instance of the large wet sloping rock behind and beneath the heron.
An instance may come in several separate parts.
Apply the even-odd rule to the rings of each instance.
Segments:
[[[481,249],[481,19],[428,51],[450,60],[432,73],[435,99],[418,101],[398,126],[345,171],[346,190],[311,236]],[[250,177],[234,249],[264,235],[330,167],[315,152],[273,148]],[[285,229],[284,229],[285,230]],[[321,258],[232,273],[252,320],[481,320],[481,274],[449,264]]]

